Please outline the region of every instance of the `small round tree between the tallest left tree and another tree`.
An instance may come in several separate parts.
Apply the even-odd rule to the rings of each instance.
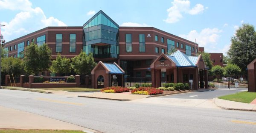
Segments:
[[[52,61],[50,71],[54,73],[67,73],[71,72],[71,63],[70,59],[63,57],[58,53],[56,60]]]

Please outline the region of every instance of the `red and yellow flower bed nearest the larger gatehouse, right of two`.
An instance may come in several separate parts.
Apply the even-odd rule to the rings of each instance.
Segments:
[[[163,94],[163,91],[154,87],[140,87],[132,90],[131,94],[156,95]]]

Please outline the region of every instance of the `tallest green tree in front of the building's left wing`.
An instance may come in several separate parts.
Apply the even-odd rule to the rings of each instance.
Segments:
[[[23,63],[26,72],[29,74],[47,70],[51,63],[51,50],[47,44],[38,47],[37,44],[32,42],[25,48]]]

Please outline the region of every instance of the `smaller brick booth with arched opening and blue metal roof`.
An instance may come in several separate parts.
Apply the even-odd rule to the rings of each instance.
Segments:
[[[92,75],[92,88],[105,88],[111,86],[124,87],[124,70],[116,63],[108,64],[99,61],[93,68]]]

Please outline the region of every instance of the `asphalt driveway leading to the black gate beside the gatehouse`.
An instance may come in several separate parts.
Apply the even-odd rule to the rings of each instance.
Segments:
[[[238,91],[241,92],[241,91]],[[228,94],[235,94],[236,90],[224,90],[224,89],[211,89],[206,91],[196,91],[191,93],[183,93],[177,95],[167,95],[163,98],[183,98],[183,99],[212,99]]]

